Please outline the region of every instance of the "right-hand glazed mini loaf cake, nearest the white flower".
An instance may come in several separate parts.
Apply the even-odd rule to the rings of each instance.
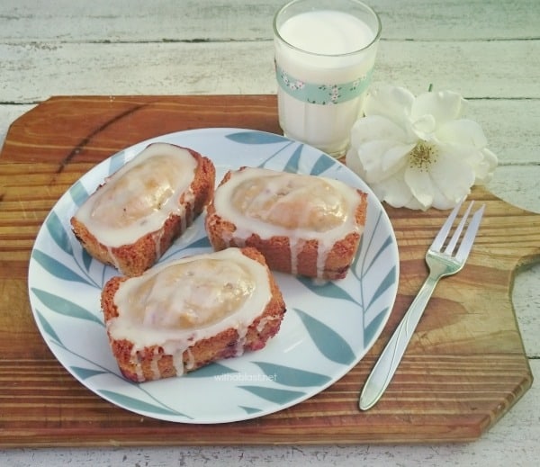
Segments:
[[[314,175],[229,171],[207,208],[212,247],[256,247],[276,271],[340,279],[364,231],[367,194]]]

